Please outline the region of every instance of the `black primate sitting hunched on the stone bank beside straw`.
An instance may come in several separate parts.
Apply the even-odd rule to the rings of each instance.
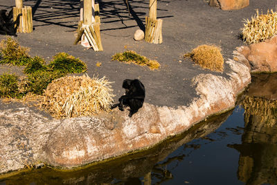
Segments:
[[[113,105],[111,108],[118,107],[121,111],[124,110],[123,105],[127,105],[130,108],[129,117],[138,112],[143,107],[145,98],[145,87],[140,80],[126,79],[123,81],[122,87],[125,89],[125,95],[121,96],[119,103]]]

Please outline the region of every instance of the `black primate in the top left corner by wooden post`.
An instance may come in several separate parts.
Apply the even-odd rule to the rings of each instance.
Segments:
[[[12,10],[10,10],[8,16],[6,12],[7,10],[0,10],[0,34],[17,36],[17,26],[19,26],[19,18],[22,14],[17,15],[16,21],[12,21]]]

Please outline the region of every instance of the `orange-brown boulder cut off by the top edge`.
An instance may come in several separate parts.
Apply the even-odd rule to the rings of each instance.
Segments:
[[[222,10],[240,10],[249,6],[249,0],[211,0],[209,5]]]

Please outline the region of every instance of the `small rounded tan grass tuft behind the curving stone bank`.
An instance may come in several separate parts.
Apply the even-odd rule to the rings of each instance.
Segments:
[[[193,49],[191,53],[186,53],[184,57],[190,57],[199,66],[212,71],[223,71],[224,69],[221,49],[217,46],[204,44]]]

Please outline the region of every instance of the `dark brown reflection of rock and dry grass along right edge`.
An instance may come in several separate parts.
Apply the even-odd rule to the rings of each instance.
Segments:
[[[246,184],[277,184],[276,82],[277,74],[253,76],[242,103],[242,144],[229,145],[240,152],[238,179]]]

